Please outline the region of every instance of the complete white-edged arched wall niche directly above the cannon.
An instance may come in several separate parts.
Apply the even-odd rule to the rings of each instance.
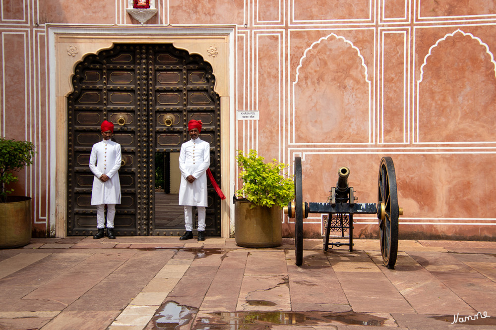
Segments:
[[[371,81],[360,50],[334,33],[314,42],[293,82],[295,143],[372,142]]]

